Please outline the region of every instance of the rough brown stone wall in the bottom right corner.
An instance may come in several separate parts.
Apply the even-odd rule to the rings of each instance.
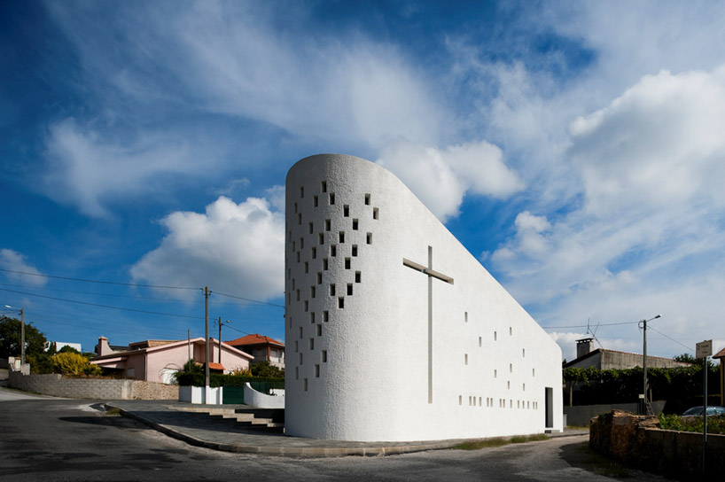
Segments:
[[[592,420],[589,446],[637,468],[669,478],[699,480],[702,474],[701,433],[659,429],[654,416],[635,416],[613,410]],[[725,471],[725,435],[707,436],[706,477]]]

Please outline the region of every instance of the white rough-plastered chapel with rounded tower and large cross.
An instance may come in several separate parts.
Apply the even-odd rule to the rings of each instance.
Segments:
[[[384,167],[301,159],[285,241],[287,435],[562,430],[560,348]]]

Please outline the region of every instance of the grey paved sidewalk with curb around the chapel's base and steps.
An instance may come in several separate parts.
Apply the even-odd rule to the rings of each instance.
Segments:
[[[268,433],[239,428],[236,422],[206,414],[183,412],[174,408],[189,408],[188,403],[175,400],[113,400],[108,408],[119,408],[121,414],[198,447],[227,452],[289,457],[342,457],[346,455],[384,456],[409,454],[425,450],[450,448],[464,441],[427,440],[411,442],[348,442],[341,440],[305,439],[280,433]],[[195,407],[202,407],[195,405]],[[209,405],[209,408],[219,408]],[[233,405],[224,405],[233,408]],[[238,407],[245,407],[239,405]],[[553,433],[550,437],[585,435],[586,430]]]

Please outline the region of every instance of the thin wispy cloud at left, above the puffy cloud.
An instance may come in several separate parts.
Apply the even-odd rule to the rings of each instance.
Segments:
[[[112,141],[90,126],[66,119],[52,124],[46,139],[44,192],[83,214],[106,216],[113,201],[152,194],[180,176],[207,173],[210,165],[199,158],[214,155],[202,154],[203,149],[173,135]]]

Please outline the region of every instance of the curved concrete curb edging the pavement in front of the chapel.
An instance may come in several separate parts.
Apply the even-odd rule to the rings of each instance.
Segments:
[[[332,458],[346,457],[349,455],[363,457],[383,457],[386,455],[412,454],[414,452],[425,452],[428,450],[443,450],[451,448],[460,443],[460,440],[451,440],[446,442],[435,442],[431,444],[418,445],[401,445],[393,447],[263,447],[227,444],[221,442],[212,442],[209,440],[198,439],[189,434],[177,431],[164,424],[159,424],[144,416],[140,416],[134,412],[115,407],[111,403],[105,403],[106,408],[117,408],[122,416],[132,418],[142,424],[148,425],[153,430],[160,431],[169,437],[181,440],[196,447],[210,448],[212,450],[220,450],[223,452],[233,452],[237,454],[254,454],[254,455],[272,455],[281,457],[294,458]]]

